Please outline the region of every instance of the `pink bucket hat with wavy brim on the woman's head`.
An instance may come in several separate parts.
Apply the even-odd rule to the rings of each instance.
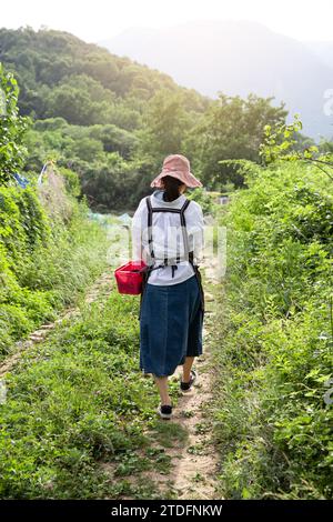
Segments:
[[[162,189],[161,180],[164,175],[172,175],[192,189],[195,187],[202,187],[201,181],[190,172],[190,161],[182,154],[167,155],[163,161],[162,172],[152,180],[150,185]]]

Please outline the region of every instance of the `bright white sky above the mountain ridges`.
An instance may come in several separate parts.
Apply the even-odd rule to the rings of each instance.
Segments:
[[[299,40],[333,41],[332,0],[14,0],[0,27],[47,26],[85,41],[129,27],[165,27],[192,20],[254,20]]]

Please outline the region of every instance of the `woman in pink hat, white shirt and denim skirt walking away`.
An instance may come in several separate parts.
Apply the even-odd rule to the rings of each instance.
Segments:
[[[194,358],[202,353],[204,295],[199,263],[203,250],[200,204],[183,195],[202,187],[182,154],[164,159],[151,182],[157,190],[143,198],[132,221],[133,259],[148,265],[140,307],[140,369],[158,385],[162,419],[172,415],[168,377],[183,365],[180,388],[189,391],[196,373]]]

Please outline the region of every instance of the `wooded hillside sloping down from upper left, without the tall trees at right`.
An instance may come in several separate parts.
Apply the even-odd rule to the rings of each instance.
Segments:
[[[184,127],[209,104],[167,74],[69,33],[1,29],[0,49],[20,86],[20,113],[34,122],[27,169],[56,159],[80,174],[83,192],[101,210],[134,207],[158,167],[151,155],[134,154],[149,107],[168,104],[174,128],[180,109],[186,113],[172,143],[163,144],[176,149]]]

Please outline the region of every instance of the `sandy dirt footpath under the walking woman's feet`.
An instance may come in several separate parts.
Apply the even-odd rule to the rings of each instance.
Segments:
[[[179,396],[171,421],[159,421],[164,433],[164,443],[154,433],[148,431],[151,448],[162,450],[170,459],[171,466],[165,470],[150,470],[141,473],[141,483],[151,481],[159,490],[159,498],[172,496],[179,500],[214,500],[221,499],[218,493],[216,476],[219,474],[218,452],[212,441],[213,418],[211,411],[212,385],[214,381],[214,363],[211,347],[214,342],[212,331],[215,322],[215,310],[220,302],[215,299],[219,292],[216,279],[216,261],[205,265],[204,290],[206,314],[203,329],[203,354],[195,359],[194,368],[198,381],[193,389]],[[171,378],[176,381],[181,375],[181,367]],[[181,393],[181,392],[180,392]],[[172,430],[173,424],[175,430]],[[176,433],[182,436],[176,438]],[[170,444],[165,444],[169,440]],[[130,478],[130,482],[135,478]]]

